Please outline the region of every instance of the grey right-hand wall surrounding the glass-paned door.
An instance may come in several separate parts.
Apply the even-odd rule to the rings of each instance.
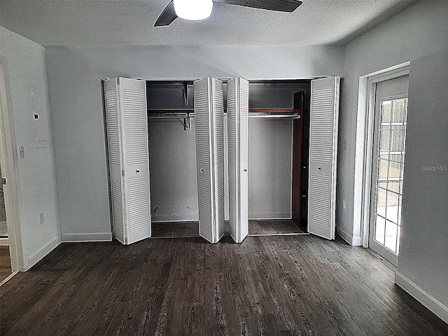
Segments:
[[[339,141],[347,140],[347,150],[339,150],[337,190],[338,199],[344,198],[347,204],[343,210],[339,202],[338,230],[360,239],[360,225],[353,223],[358,80],[367,73],[410,61],[398,274],[416,285],[417,292],[423,293],[423,290],[435,297],[445,309],[448,306],[448,172],[426,171],[422,167],[448,166],[447,18],[447,2],[417,3],[346,45]],[[441,314],[448,321],[448,310]]]

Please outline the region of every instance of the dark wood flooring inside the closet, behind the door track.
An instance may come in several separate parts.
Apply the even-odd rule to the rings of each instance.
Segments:
[[[152,235],[157,238],[200,237],[197,222],[152,223]],[[249,221],[249,235],[292,235],[303,233],[290,219]]]

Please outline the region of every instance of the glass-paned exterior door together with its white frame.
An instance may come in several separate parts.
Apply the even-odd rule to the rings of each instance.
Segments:
[[[353,237],[359,239],[353,245],[372,248],[395,266],[408,85],[409,62],[405,62],[360,77],[358,92],[353,223],[360,223],[361,235]]]

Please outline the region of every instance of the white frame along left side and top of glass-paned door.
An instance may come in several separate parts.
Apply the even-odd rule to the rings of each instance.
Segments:
[[[373,130],[376,84],[409,75],[405,62],[359,78],[356,122],[355,179],[353,190],[353,237],[360,232],[360,244],[369,247],[370,195],[372,181]],[[356,227],[359,225],[358,227]]]

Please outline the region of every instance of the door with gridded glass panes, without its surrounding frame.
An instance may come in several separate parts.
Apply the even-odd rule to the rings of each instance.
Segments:
[[[369,245],[398,265],[409,76],[376,85]]]

